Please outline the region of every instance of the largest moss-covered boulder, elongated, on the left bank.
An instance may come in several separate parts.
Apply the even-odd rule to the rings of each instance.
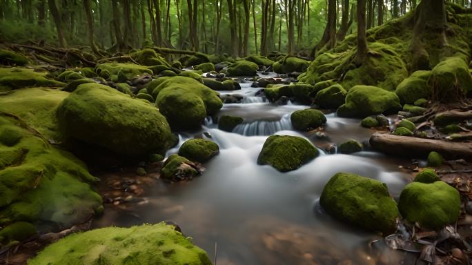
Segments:
[[[166,152],[170,128],[159,111],[108,86],[80,85],[57,108],[68,137],[127,156]]]

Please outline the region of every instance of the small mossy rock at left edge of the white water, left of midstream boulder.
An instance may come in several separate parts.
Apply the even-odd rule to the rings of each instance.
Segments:
[[[179,155],[190,161],[203,163],[219,153],[218,145],[206,139],[190,139],[179,148]]]

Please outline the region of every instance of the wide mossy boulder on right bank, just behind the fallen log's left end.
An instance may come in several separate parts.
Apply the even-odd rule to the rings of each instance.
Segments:
[[[400,99],[394,92],[376,86],[355,86],[348,91],[346,103],[337,109],[340,117],[366,117],[401,110]]]

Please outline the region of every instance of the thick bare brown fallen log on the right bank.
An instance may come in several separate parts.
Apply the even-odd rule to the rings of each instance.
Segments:
[[[446,159],[471,159],[472,143],[374,133],[369,143],[375,150],[401,157],[426,157],[431,151]]]

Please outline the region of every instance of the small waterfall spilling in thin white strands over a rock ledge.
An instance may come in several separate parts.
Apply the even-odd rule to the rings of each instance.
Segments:
[[[233,133],[239,135],[273,135],[279,130],[293,130],[290,114],[282,116],[279,121],[253,121],[248,124],[239,124],[233,129]]]

